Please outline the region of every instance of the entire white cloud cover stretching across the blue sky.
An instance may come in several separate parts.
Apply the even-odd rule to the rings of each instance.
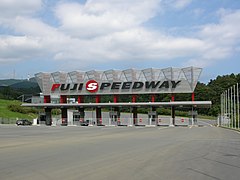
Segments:
[[[164,3],[177,10],[187,7],[190,0],[90,0],[85,4],[60,1],[54,7],[57,26],[33,15],[42,7],[41,1],[24,1],[19,7],[2,2],[13,12],[7,15],[0,12],[0,25],[14,31],[0,36],[2,63],[43,58],[63,64],[67,70],[109,62],[124,64],[130,60],[133,64],[161,64],[186,59],[184,66],[204,67],[239,51],[235,48],[240,41],[239,10],[222,9],[217,12],[219,22],[202,25],[191,36],[188,33],[173,36],[161,31],[161,27],[147,28],[145,23],[166,8]],[[30,10],[24,10],[26,7]]]

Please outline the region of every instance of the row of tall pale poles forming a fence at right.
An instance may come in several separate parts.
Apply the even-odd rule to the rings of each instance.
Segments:
[[[218,125],[239,130],[239,85],[233,85],[221,94],[221,115]]]

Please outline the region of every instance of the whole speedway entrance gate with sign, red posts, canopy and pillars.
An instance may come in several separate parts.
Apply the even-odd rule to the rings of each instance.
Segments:
[[[148,68],[143,70],[127,69],[107,71],[73,71],[73,72],[40,72],[35,75],[43,94],[43,103],[23,104],[23,106],[43,107],[46,112],[46,124],[51,125],[51,110],[61,109],[62,125],[68,125],[68,109],[79,111],[80,121],[85,121],[85,109],[95,108],[96,125],[102,125],[102,108],[111,108],[111,122],[121,125],[120,107],[129,107],[132,113],[132,124],[138,125],[138,107],[149,108],[148,125],[158,125],[157,109],[171,108],[170,125],[175,125],[175,108],[178,106],[209,107],[210,101],[195,101],[194,89],[202,72],[202,68]],[[176,93],[191,93],[192,101],[175,101]],[[149,102],[138,102],[137,95],[148,94]],[[157,94],[171,94],[170,102],[160,102]],[[102,95],[112,95],[113,100],[101,102]],[[119,102],[119,95],[131,95],[128,103]],[[69,102],[74,96],[76,101]],[[85,103],[85,96],[95,97],[95,101]],[[53,99],[57,101],[53,102]]]

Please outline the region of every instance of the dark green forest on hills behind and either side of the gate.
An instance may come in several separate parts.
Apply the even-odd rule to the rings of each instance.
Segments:
[[[231,74],[217,76],[216,79],[211,79],[207,84],[198,82],[195,93],[196,101],[212,101],[212,107],[210,109],[199,109],[199,114],[217,116],[220,113],[220,95],[226,89],[231,86],[240,83],[240,74]],[[9,99],[9,100],[20,100],[22,95],[31,96],[34,94],[40,93],[40,89],[36,84],[34,86],[29,86],[26,84],[26,81],[23,82],[21,86],[2,86],[0,87],[0,99]],[[93,97],[85,98],[86,102],[93,101]],[[170,101],[170,94],[158,94],[156,95],[156,101]],[[111,96],[103,96],[101,99],[102,102],[112,101]],[[120,96],[119,102],[130,102],[131,96]],[[138,102],[148,102],[150,101],[149,95],[139,95],[137,97]],[[191,101],[191,94],[175,94],[175,101]]]

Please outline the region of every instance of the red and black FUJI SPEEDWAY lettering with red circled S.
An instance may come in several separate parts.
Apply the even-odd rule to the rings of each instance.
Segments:
[[[51,87],[51,93],[60,94],[132,94],[136,92],[141,93],[159,93],[162,91],[172,92],[178,86],[181,85],[181,81],[128,81],[128,82],[97,82],[95,80],[87,81],[84,83],[75,84],[53,84]]]

